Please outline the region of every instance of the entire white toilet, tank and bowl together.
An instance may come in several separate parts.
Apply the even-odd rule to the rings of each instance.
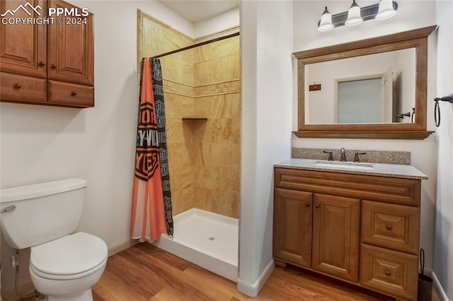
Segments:
[[[75,232],[87,183],[64,179],[0,190],[1,232],[13,249],[31,248],[30,278],[49,301],[91,301],[107,263],[101,238]]]

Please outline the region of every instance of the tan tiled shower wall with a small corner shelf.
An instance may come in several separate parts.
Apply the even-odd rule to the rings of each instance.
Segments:
[[[139,59],[195,43],[145,14],[138,28]],[[200,208],[238,218],[239,37],[162,57],[161,64],[173,215]]]

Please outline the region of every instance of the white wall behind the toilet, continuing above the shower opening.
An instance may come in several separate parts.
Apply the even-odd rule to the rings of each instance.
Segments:
[[[96,105],[79,110],[1,102],[0,185],[87,179],[78,230],[101,237],[111,254],[130,245],[137,131],[137,8],[188,35],[193,35],[193,25],[158,1],[71,3],[94,13]],[[2,243],[3,291],[13,289],[8,264],[11,254]],[[23,276],[28,275],[26,257],[25,252]]]

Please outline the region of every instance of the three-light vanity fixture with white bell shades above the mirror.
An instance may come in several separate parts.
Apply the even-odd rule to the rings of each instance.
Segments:
[[[349,8],[349,11],[343,13],[336,13],[332,15],[329,13],[327,6],[323,11],[321,20],[318,22],[319,31],[329,31],[338,26],[353,26],[359,25],[366,20],[386,20],[395,16],[398,4],[392,0],[381,0],[379,4],[365,6],[360,8],[355,0]]]

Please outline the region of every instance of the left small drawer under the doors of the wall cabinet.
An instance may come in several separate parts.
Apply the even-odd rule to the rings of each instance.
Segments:
[[[45,78],[0,72],[0,83],[1,100],[15,102],[46,102],[47,100]]]

